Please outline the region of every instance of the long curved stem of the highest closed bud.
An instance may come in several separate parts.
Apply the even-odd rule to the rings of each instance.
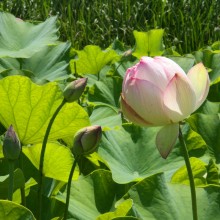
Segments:
[[[43,194],[43,164],[44,164],[44,155],[46,151],[46,146],[47,146],[47,140],[50,134],[51,127],[53,125],[53,122],[61,110],[61,108],[64,106],[66,103],[66,100],[63,99],[62,103],[58,106],[56,111],[54,112],[53,116],[50,119],[50,122],[47,126],[47,130],[44,136],[43,144],[42,144],[42,149],[41,149],[41,155],[40,155],[40,165],[39,165],[39,182],[38,182],[38,219],[41,219],[41,214],[42,214],[42,194]]]

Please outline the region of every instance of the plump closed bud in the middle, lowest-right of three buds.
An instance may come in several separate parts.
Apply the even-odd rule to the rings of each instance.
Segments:
[[[98,125],[80,129],[74,136],[72,152],[75,156],[95,152],[102,136],[102,128]]]

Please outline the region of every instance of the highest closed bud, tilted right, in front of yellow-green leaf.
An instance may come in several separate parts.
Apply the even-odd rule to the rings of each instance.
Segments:
[[[82,95],[87,83],[87,78],[80,78],[72,81],[63,91],[67,102],[74,102]]]

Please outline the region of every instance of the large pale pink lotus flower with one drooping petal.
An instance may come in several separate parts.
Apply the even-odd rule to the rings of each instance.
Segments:
[[[163,158],[179,135],[179,122],[204,102],[209,76],[199,63],[186,73],[166,57],[142,57],[126,72],[121,94],[125,117],[141,126],[163,126],[156,137]]]

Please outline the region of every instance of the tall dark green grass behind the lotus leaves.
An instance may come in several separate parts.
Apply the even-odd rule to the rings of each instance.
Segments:
[[[166,48],[195,51],[220,39],[217,0],[3,0],[0,9],[25,20],[57,15],[62,40],[76,49],[108,47],[114,39],[134,45],[132,32],[165,29]]]

